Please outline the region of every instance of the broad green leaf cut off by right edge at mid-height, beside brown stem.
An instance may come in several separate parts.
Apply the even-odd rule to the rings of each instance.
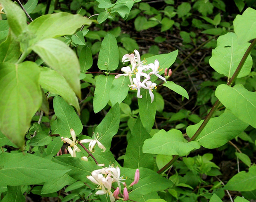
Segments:
[[[233,88],[221,84],[215,95],[232,114],[256,128],[256,92],[247,91],[241,84]]]

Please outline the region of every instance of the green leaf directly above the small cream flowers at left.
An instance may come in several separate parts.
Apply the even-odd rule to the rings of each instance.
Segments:
[[[53,99],[53,108],[58,117],[57,131],[60,136],[71,137],[71,128],[75,131],[76,135],[81,133],[83,125],[73,107],[68,105],[61,97],[55,96]]]

